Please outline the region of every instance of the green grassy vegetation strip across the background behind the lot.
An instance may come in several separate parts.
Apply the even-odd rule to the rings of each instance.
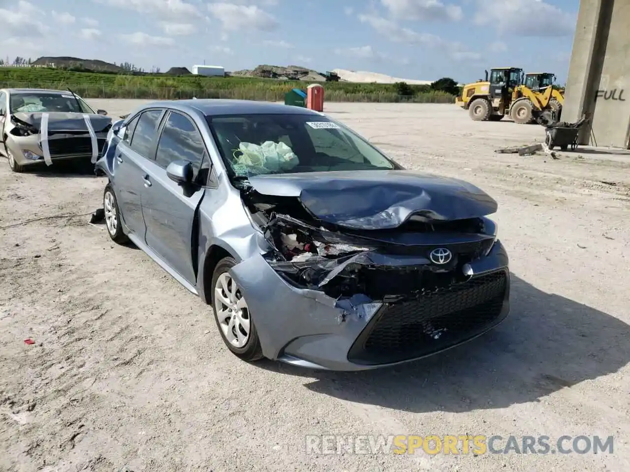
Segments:
[[[85,98],[238,98],[284,101],[292,88],[309,82],[254,77],[166,76],[76,72],[47,67],[0,68],[0,88],[70,88]],[[453,103],[454,96],[430,86],[322,82],[327,101]]]

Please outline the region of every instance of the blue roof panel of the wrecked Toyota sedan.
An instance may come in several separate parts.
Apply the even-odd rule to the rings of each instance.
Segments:
[[[142,109],[145,108],[172,108],[173,110],[181,111],[195,110],[205,116],[263,114],[321,116],[321,113],[318,111],[282,103],[215,98],[155,101],[144,104]]]

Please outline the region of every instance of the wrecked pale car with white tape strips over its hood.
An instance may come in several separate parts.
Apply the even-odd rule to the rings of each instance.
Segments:
[[[71,91],[0,89],[0,154],[14,172],[100,157],[112,119]]]

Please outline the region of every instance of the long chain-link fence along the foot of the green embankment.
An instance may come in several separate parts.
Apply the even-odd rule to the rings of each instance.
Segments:
[[[325,86],[324,86],[325,87]],[[143,87],[143,86],[109,86],[105,84],[29,84],[0,82],[0,88],[38,88],[38,89],[71,89],[83,98],[128,98],[174,100],[190,98],[224,98],[260,101],[284,101],[287,91],[264,89],[260,86],[234,87],[224,89],[195,89],[187,87]],[[348,93],[343,90],[325,91],[326,101],[331,102],[376,102],[376,103],[453,103],[454,96],[449,94],[417,93],[406,96],[390,92]]]

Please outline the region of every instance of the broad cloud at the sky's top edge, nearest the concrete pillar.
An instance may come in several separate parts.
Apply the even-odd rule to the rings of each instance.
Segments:
[[[531,21],[536,18],[536,21]],[[510,37],[563,37],[575,32],[576,14],[542,0],[478,0],[474,23]]]

